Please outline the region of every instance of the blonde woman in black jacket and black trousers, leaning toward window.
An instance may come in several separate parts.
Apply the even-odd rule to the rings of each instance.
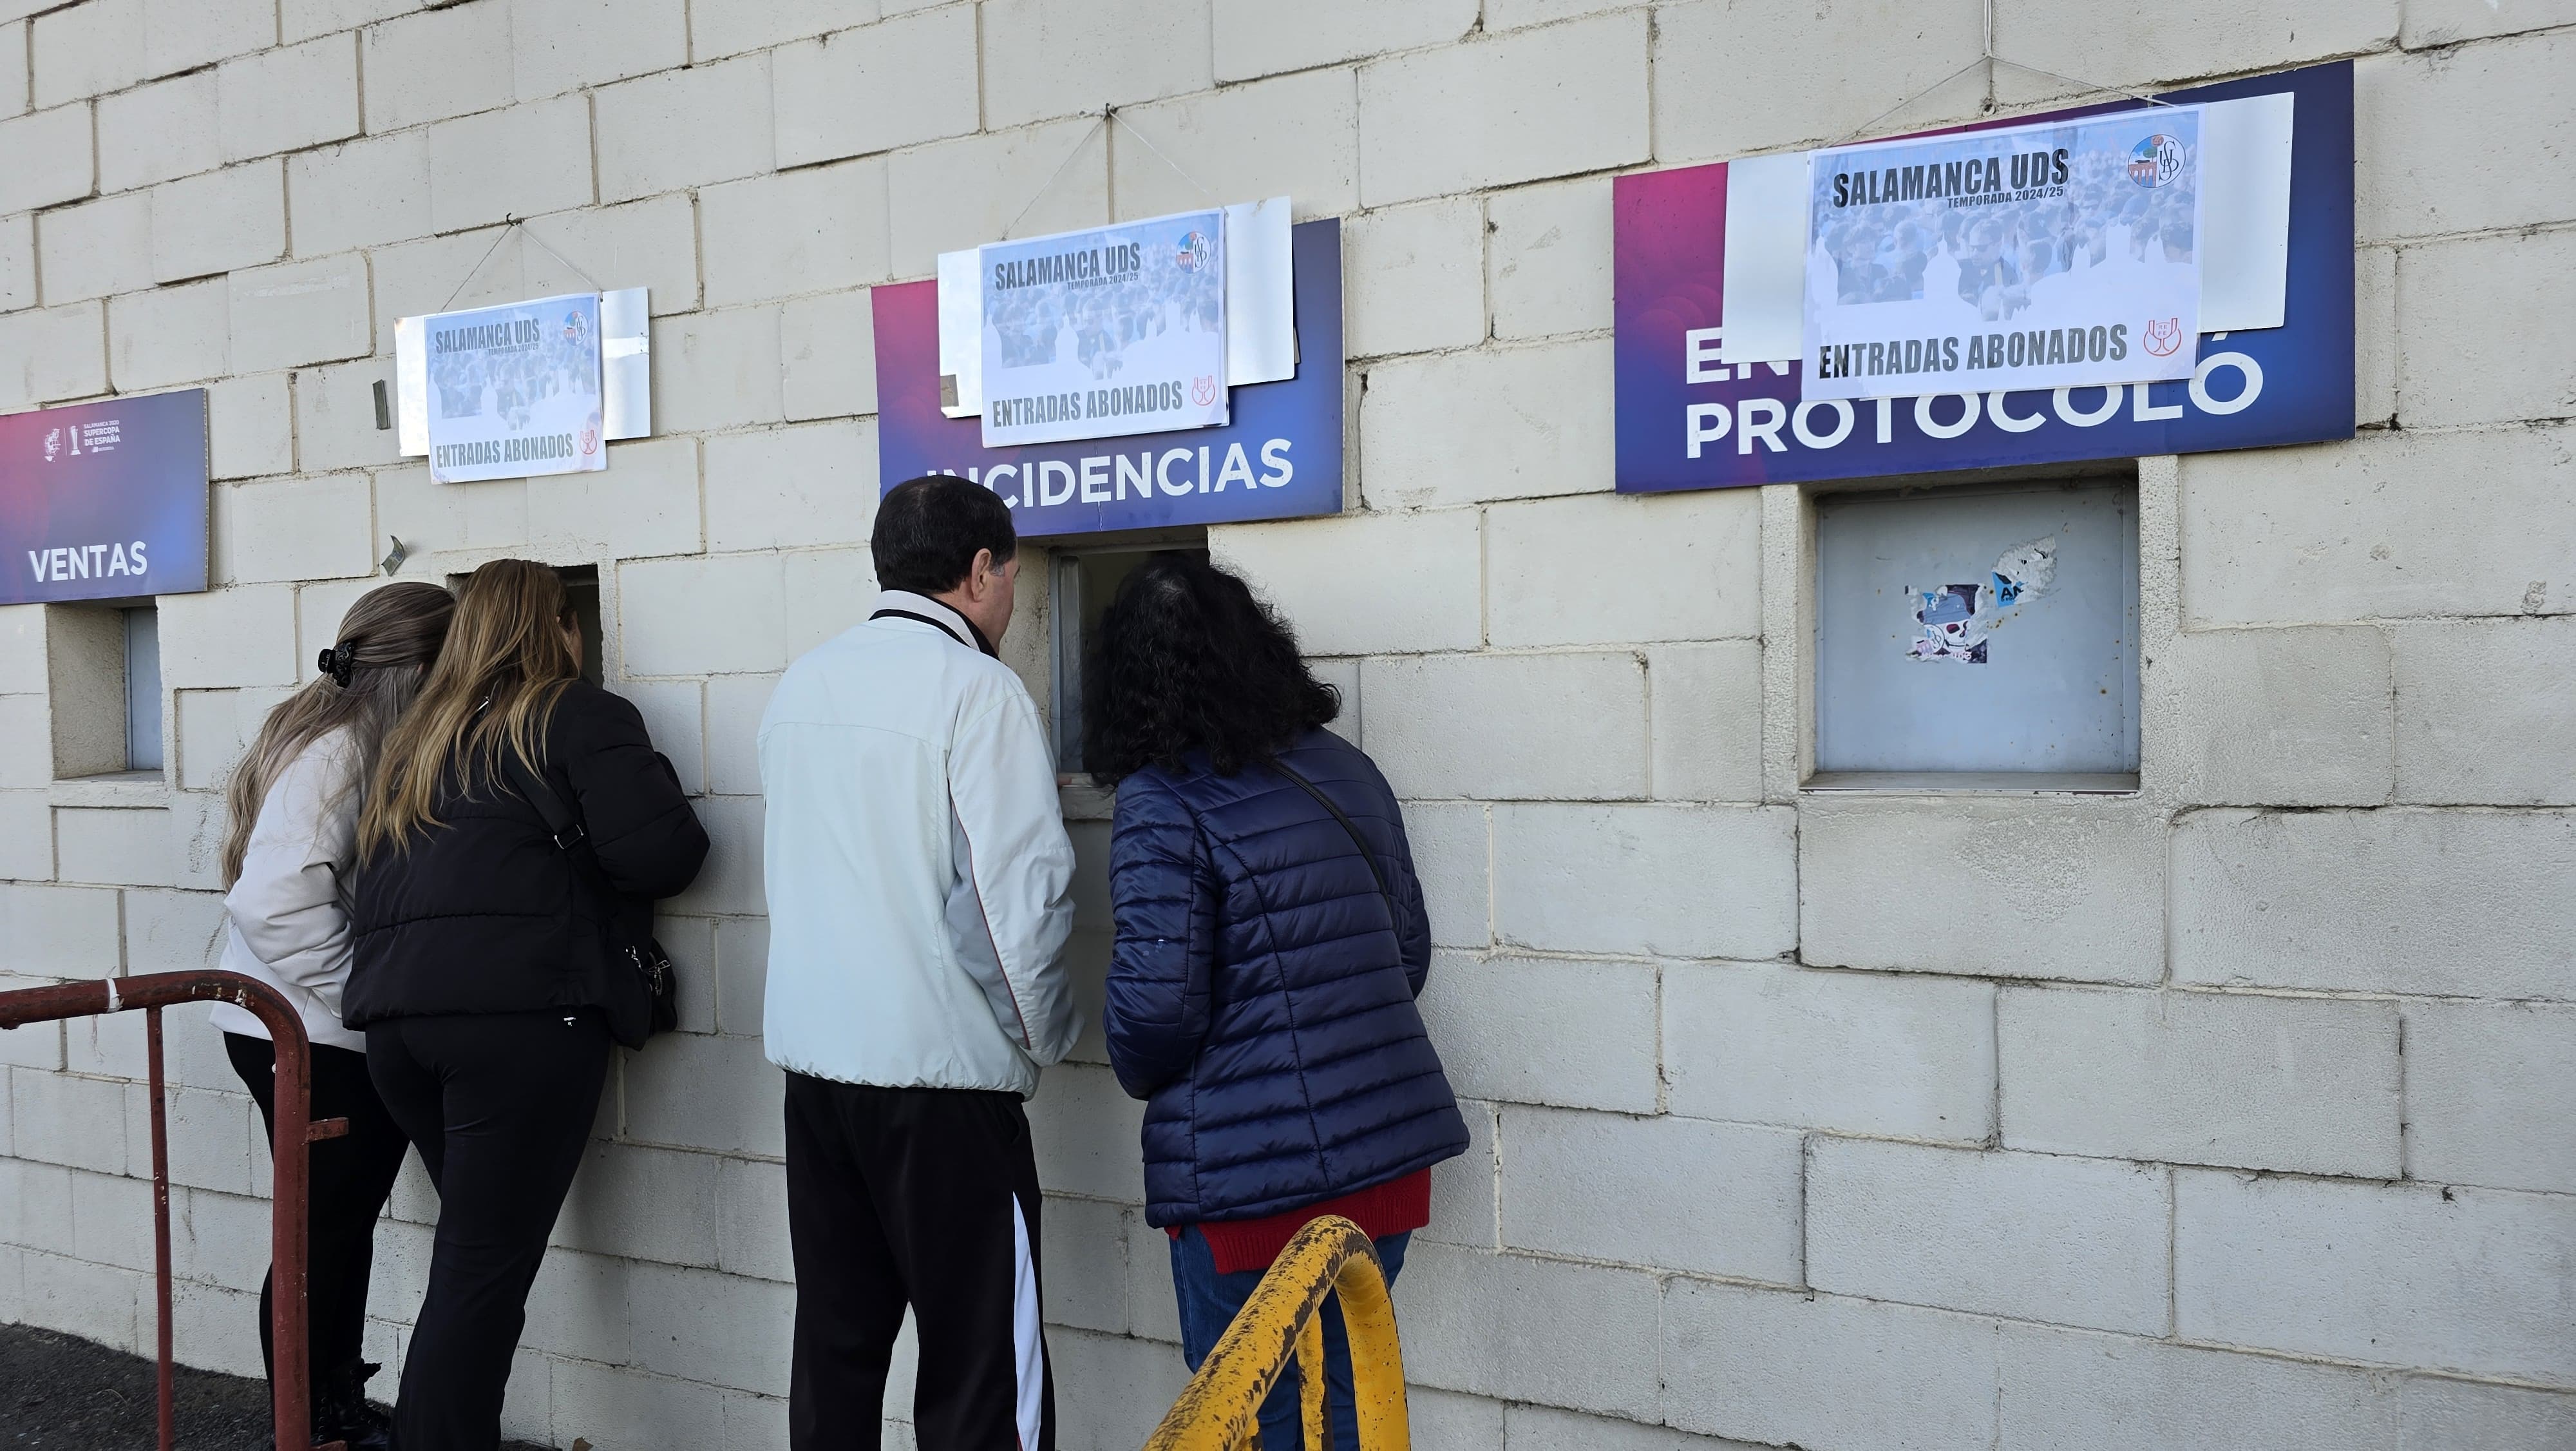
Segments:
[[[438,1186],[394,1446],[489,1451],[528,1283],[582,1162],[611,1039],[644,1039],[631,946],[698,876],[706,830],[631,704],[580,678],[546,564],[466,580],[446,652],[384,742],[343,1013]],[[531,804],[567,807],[567,845]]]

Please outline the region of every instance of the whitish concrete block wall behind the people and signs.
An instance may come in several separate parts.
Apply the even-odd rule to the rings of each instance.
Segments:
[[[2357,67],[2365,428],[2138,464],[2133,796],[1801,796],[1811,497],[1610,492],[1607,178],[1839,139],[1976,57],[1973,0],[0,0],[0,410],[209,387],[216,474],[167,781],[54,781],[82,621],[0,611],[0,987],[214,959],[222,781],[386,536],[402,577],[595,564],[719,845],[507,1425],[783,1443],[750,737],[868,601],[868,289],[1288,191],[1345,219],[1347,513],[1211,546],[1345,688],[1432,899],[1473,1149],[1396,1296],[1422,1446],[2571,1446],[2576,10],[1994,26],[2115,85]],[[652,286],[657,438],[394,456],[394,317],[582,276]],[[1066,809],[1097,1005],[1105,809]],[[149,1345],[139,1075],[131,1021],[0,1033],[0,1320]],[[170,1077],[180,1353],[255,1371],[258,1119],[201,1023]],[[1090,1033],[1030,1113],[1064,1443],[1136,1446],[1185,1379],[1139,1108]],[[412,1170],[371,1358],[433,1219]]]

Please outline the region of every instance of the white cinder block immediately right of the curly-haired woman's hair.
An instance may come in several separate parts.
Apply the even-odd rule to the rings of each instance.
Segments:
[[[1360,696],[1363,745],[1396,796],[1646,794],[1646,668],[1636,655],[1363,660]],[[1584,701],[1584,711],[1530,709],[1535,701]]]

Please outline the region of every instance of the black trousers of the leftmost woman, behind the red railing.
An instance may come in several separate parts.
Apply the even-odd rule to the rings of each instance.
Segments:
[[[224,1033],[224,1057],[260,1103],[268,1142],[278,1142],[278,1046]],[[348,1134],[312,1147],[304,1196],[304,1343],[307,1374],[319,1399],[335,1387],[358,1389],[366,1340],[366,1281],[376,1265],[376,1219],[402,1173],[410,1139],[384,1111],[366,1075],[366,1054],[314,1044],[307,1098],[314,1119],[348,1119]],[[260,1278],[260,1366],[276,1369],[270,1283]]]

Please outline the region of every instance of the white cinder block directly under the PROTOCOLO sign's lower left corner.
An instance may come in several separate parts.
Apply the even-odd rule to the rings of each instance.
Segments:
[[[1492,508],[1486,570],[1494,644],[1749,639],[1762,634],[1762,500],[1605,492]]]

